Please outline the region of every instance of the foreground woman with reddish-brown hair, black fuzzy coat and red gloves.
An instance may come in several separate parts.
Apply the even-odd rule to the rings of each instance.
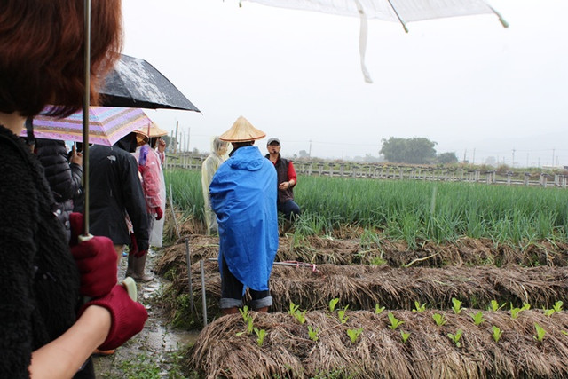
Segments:
[[[69,246],[42,165],[18,137],[48,104],[57,116],[81,109],[84,13],[76,0],[0,2],[0,378],[92,378],[91,353],[120,346],[147,318],[116,285],[112,241],[77,238],[80,215]],[[91,0],[91,20],[96,103],[121,47],[120,0]]]

